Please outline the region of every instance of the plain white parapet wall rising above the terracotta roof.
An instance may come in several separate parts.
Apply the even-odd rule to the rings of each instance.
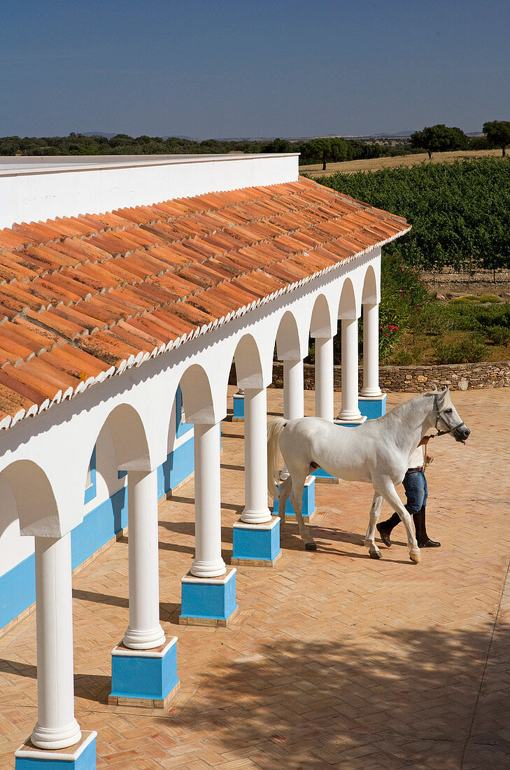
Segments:
[[[298,179],[298,153],[0,159],[0,227]]]

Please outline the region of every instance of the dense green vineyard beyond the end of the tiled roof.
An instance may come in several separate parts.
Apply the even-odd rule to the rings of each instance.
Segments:
[[[337,173],[317,181],[405,216],[412,231],[391,249],[410,265],[510,266],[510,158]]]

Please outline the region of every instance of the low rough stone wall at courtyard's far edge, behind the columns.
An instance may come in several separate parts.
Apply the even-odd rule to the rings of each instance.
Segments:
[[[315,387],[315,370],[311,363],[305,363],[305,390]],[[335,390],[341,390],[342,367],[335,367]],[[359,389],[362,389],[363,370],[359,367]],[[235,370],[232,367],[230,382],[235,384]],[[283,364],[273,365],[273,384],[283,387]],[[429,367],[381,367],[379,384],[383,391],[399,390],[405,393],[422,393],[448,387],[451,390],[468,390],[482,387],[510,387],[510,361],[484,361],[482,363],[443,363]]]

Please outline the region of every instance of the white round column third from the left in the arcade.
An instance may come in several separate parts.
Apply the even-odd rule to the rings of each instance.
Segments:
[[[222,559],[220,446],[222,423],[195,423],[195,561],[196,577],[218,577]]]

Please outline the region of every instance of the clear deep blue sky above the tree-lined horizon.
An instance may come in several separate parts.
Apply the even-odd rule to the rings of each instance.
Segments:
[[[0,136],[316,136],[509,120],[510,2],[2,2]]]

